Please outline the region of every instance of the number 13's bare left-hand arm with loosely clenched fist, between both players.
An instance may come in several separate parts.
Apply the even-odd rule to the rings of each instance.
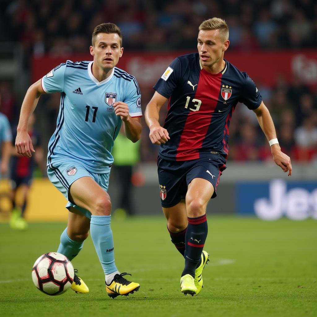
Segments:
[[[156,91],[145,109],[145,120],[150,129],[149,136],[153,144],[160,145],[170,139],[167,130],[159,124],[159,111],[166,101],[167,98]]]

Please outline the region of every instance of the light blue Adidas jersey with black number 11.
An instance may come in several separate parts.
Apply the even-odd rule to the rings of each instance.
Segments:
[[[42,78],[46,93],[61,92],[57,127],[49,140],[48,166],[71,159],[88,171],[108,173],[113,142],[122,123],[113,103],[125,102],[131,117],[142,116],[135,78],[114,67],[111,75],[99,82],[92,74],[92,64],[67,61]]]

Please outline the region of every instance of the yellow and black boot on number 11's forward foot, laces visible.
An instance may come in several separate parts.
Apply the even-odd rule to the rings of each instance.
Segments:
[[[106,283],[106,291],[111,298],[115,298],[119,295],[129,296],[129,294],[133,294],[139,290],[140,284],[126,280],[123,275],[131,274],[116,274],[109,285]]]

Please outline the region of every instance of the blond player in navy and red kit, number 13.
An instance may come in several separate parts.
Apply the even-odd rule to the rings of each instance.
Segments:
[[[289,157],[281,152],[272,118],[254,82],[223,59],[229,30],[220,18],[199,27],[198,53],[179,56],[154,85],[146,107],[150,139],[159,144],[158,175],[163,212],[171,241],[185,258],[180,287],[198,294],[209,254],[206,206],[216,197],[220,175],[226,168],[229,124],[238,102],[256,113],[275,163],[292,173]],[[160,108],[168,100],[164,126]]]

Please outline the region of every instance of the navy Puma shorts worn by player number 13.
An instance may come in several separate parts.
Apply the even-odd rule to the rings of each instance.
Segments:
[[[218,154],[190,161],[170,161],[158,157],[159,193],[162,207],[172,207],[185,199],[187,186],[194,178],[208,180],[215,188],[226,169],[225,160]]]

